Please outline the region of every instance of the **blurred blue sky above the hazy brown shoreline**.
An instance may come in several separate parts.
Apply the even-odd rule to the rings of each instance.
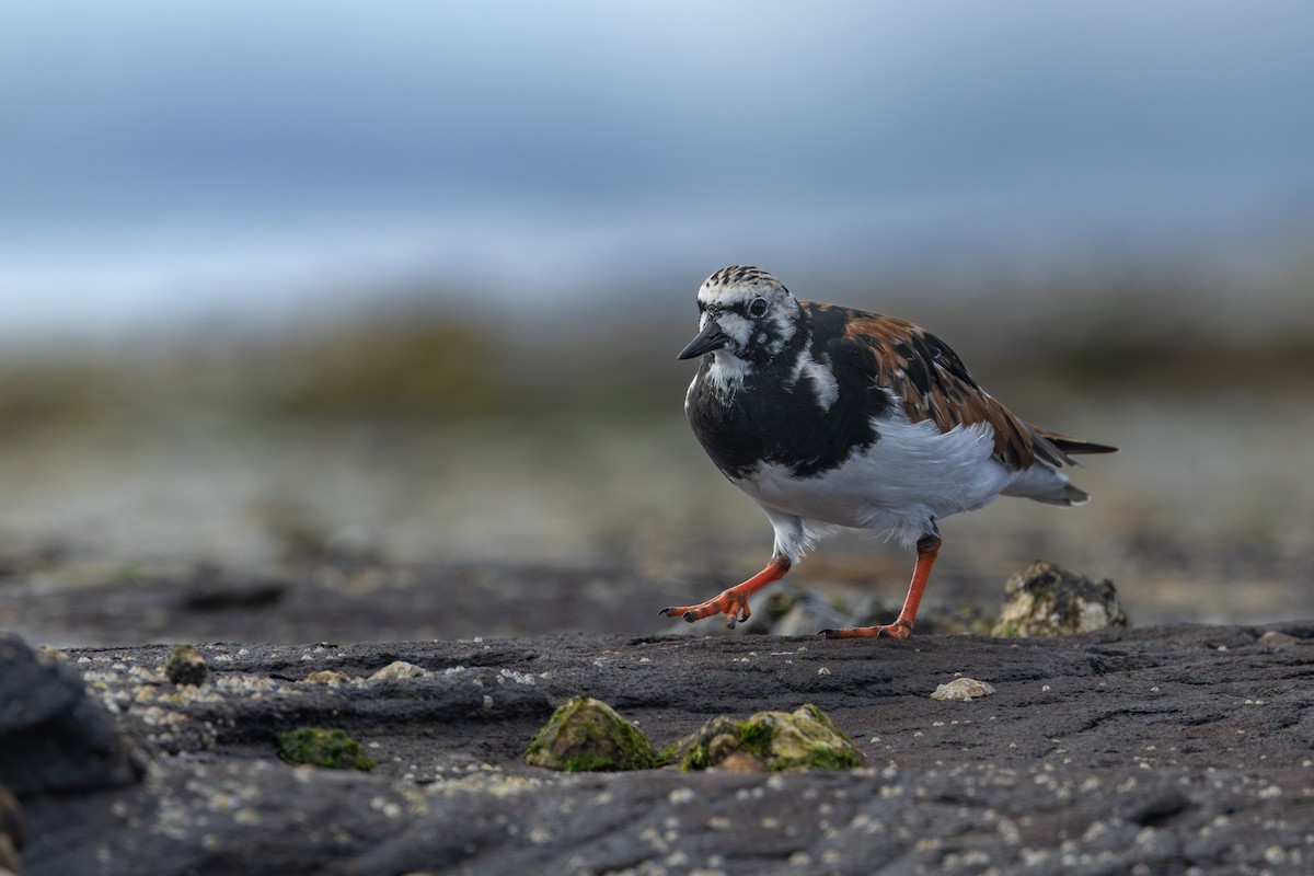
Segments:
[[[5,331],[1244,250],[1314,227],[1311,33],[1296,1],[7,4]]]

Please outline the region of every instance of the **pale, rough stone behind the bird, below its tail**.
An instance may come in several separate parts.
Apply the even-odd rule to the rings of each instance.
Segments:
[[[1070,636],[1131,625],[1112,580],[1092,580],[1045,559],[1009,578],[1005,588],[995,636]]]

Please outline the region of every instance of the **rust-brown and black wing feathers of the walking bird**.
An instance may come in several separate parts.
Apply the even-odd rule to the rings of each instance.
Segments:
[[[1000,405],[972,378],[958,355],[930,332],[894,317],[853,311],[845,338],[870,357],[872,380],[903,399],[908,419],[932,420],[941,432],[955,426],[989,423],[995,458],[1009,469],[1030,468],[1037,458],[1074,465],[1049,432],[1041,432]]]

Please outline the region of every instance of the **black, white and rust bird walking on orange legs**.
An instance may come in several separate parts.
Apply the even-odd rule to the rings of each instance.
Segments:
[[[800,301],[769,272],[729,265],[698,289],[700,359],[685,395],[694,436],[721,474],[766,512],[775,540],[762,571],[661,615],[750,616],[749,598],[841,529],[899,538],[917,553],[899,616],[828,638],[912,636],[941,548],[937,521],[1001,495],[1079,506],[1063,471],[1117,448],[1031,426],[987,393],[958,355],[899,318]]]

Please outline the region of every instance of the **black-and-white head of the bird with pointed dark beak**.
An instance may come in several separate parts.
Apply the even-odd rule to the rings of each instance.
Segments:
[[[698,336],[677,359],[704,353],[765,362],[798,332],[802,309],[779,280],[744,265],[721,268],[698,289]]]

